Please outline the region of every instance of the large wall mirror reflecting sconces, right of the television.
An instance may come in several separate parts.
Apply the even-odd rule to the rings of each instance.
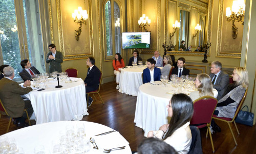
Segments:
[[[170,46],[167,53],[169,54],[183,54],[183,55],[202,55],[204,52],[195,51],[198,46],[202,46],[209,40],[210,27],[208,27],[209,20],[211,18],[211,9],[208,6],[212,6],[212,0],[209,1],[197,1],[197,0],[168,0],[166,2],[166,33],[165,40]],[[173,24],[178,21],[180,29],[170,37],[175,31]],[[211,21],[210,21],[211,22]],[[196,26],[201,26],[201,30],[197,32]],[[184,45],[181,41],[185,41]],[[181,50],[181,47],[185,46],[185,49]],[[191,46],[191,48],[188,48]],[[199,51],[202,51],[201,49]]]

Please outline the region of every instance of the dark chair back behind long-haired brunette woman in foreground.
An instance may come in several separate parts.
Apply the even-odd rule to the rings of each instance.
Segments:
[[[192,135],[192,141],[191,145],[188,151],[188,154],[202,154],[202,144],[201,144],[201,136],[200,136],[200,130],[196,126],[189,126],[191,130]]]

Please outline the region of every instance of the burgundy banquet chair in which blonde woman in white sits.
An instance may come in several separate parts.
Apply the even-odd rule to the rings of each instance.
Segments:
[[[210,123],[211,123],[212,114],[214,114],[217,103],[218,103],[218,100],[210,96],[204,96],[195,100],[194,114],[190,121],[190,125],[195,125],[198,128],[208,127],[206,132],[206,138],[209,132],[212,152],[215,152],[215,150],[214,150],[214,143],[212,142],[212,138],[211,138]]]

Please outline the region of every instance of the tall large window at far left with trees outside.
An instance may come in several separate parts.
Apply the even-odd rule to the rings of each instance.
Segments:
[[[0,1],[0,65],[12,66],[15,80],[20,79],[20,61],[24,59],[40,72],[45,71],[38,10],[37,1]]]

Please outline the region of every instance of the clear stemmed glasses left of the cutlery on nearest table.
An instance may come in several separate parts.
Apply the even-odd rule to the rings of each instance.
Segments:
[[[92,144],[86,138],[86,129],[83,124],[66,126],[60,131],[59,140],[52,142],[52,153],[84,153],[90,151]]]

